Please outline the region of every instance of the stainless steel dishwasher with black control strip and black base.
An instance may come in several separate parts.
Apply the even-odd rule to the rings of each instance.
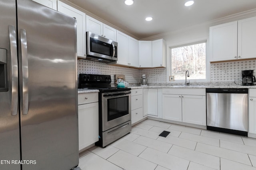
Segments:
[[[248,89],[207,88],[207,129],[248,135]]]

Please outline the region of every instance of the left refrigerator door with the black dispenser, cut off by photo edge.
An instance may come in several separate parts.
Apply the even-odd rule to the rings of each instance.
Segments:
[[[15,0],[0,0],[0,170],[20,170],[17,60]]]

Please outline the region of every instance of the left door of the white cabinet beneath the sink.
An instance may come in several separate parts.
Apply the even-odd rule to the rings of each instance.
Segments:
[[[178,94],[163,94],[163,119],[182,121],[182,100]]]

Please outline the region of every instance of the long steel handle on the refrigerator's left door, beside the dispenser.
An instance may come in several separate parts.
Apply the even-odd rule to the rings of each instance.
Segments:
[[[16,31],[13,25],[9,25],[10,53],[11,53],[11,72],[12,72],[12,96],[11,96],[11,115],[18,114],[18,55]]]

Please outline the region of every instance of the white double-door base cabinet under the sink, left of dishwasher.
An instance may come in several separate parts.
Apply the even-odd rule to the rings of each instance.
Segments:
[[[162,91],[163,119],[206,125],[205,89],[169,88]]]

